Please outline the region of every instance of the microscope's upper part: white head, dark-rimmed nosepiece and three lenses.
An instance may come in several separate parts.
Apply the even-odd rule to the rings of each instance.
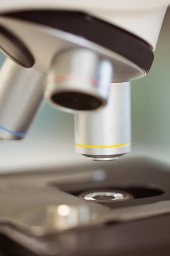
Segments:
[[[130,152],[130,81],[150,70],[167,4],[3,3],[0,139],[23,139],[45,97],[75,115],[77,153]]]

